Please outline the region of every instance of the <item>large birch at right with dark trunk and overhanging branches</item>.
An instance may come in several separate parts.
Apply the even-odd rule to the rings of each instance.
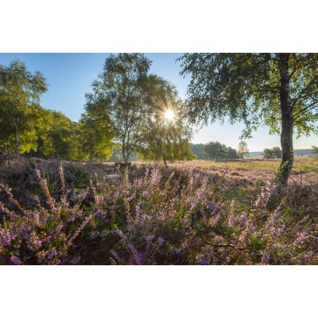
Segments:
[[[293,167],[293,130],[318,132],[318,53],[186,53],[187,110],[194,123],[243,121],[243,137],[265,124],[281,134],[282,184]],[[284,167],[284,169],[283,169]],[[284,171],[282,171],[282,169]]]

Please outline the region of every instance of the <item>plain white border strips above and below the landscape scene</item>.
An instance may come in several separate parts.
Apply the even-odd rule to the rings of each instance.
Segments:
[[[317,51],[303,0],[2,1],[0,52]],[[0,61],[1,63],[1,61]],[[313,317],[317,267],[0,267],[4,317]]]

